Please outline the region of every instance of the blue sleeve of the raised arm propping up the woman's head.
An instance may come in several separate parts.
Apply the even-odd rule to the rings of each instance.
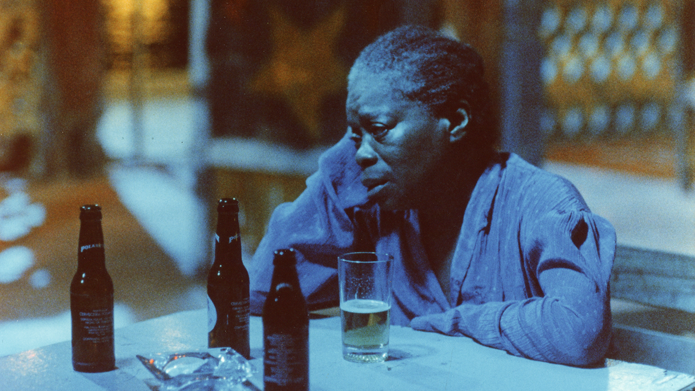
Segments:
[[[249,264],[252,314],[261,314],[270,290],[275,250],[294,248],[297,273],[307,303],[337,303],[337,256],[354,244],[350,210],[366,199],[354,163],[354,145],[343,138],[324,152],[319,169],[306,179],[294,201],[279,205]]]

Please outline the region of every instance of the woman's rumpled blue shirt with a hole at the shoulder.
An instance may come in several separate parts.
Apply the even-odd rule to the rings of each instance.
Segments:
[[[337,302],[337,256],[364,244],[394,256],[393,324],[466,335],[535,360],[589,365],[610,342],[615,232],[566,179],[498,154],[466,206],[442,292],[420,239],[418,211],[362,207],[366,189],[343,138],[294,202],[272,214],[250,264],[252,312],[270,289],[272,254],[295,248],[309,303]]]

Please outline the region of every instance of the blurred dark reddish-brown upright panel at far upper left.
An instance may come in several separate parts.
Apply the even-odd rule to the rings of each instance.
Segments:
[[[43,171],[49,177],[97,173],[105,160],[95,135],[106,65],[101,3],[46,0],[42,4]]]

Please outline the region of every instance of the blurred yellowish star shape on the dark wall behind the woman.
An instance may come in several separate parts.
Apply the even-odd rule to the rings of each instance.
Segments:
[[[322,100],[346,86],[347,67],[335,51],[345,24],[344,6],[306,30],[275,8],[270,9],[270,19],[270,60],[250,82],[250,88],[284,99],[309,138],[318,141]]]

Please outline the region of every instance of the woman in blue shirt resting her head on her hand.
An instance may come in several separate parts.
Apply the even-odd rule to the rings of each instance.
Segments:
[[[309,303],[337,300],[336,256],[395,260],[393,324],[535,360],[600,362],[610,340],[615,234],[572,184],[496,152],[483,65],[423,27],[378,38],[347,85],[345,137],[295,202],[279,206],[250,265],[252,311],[272,253],[297,251]]]

